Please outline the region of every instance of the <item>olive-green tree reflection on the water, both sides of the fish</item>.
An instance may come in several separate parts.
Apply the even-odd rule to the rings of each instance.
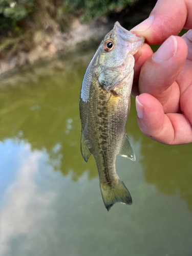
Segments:
[[[97,176],[93,156],[88,163],[80,153],[79,93],[81,81],[94,51],[76,57],[73,63],[57,60],[44,67],[2,81],[0,93],[0,140],[16,138],[32,150],[46,150],[49,164],[63,175],[78,179],[86,170]],[[141,143],[141,162],[148,183],[166,195],[179,195],[192,210],[191,144],[167,146],[139,131],[135,103],[127,133]]]

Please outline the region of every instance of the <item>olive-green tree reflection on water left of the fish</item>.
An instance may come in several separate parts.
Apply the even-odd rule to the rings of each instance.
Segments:
[[[0,94],[0,140],[23,139],[32,150],[46,150],[53,168],[63,175],[72,172],[74,180],[86,169],[90,178],[97,175],[94,159],[86,164],[80,153],[78,102],[89,57],[84,65],[82,60],[81,65],[79,61],[73,63],[76,67],[71,65],[69,72],[63,71],[68,62],[59,60],[59,69],[56,62],[51,71],[48,66],[41,72],[38,68],[31,70],[27,82],[21,82],[26,73],[16,76],[19,84],[14,84],[14,77],[8,79],[9,89],[2,84]],[[11,89],[10,84],[14,86]]]

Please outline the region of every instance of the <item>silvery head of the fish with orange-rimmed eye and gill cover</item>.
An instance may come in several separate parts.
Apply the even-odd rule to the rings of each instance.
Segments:
[[[133,55],[143,43],[144,37],[137,37],[118,22],[106,34],[98,48],[95,62],[98,81],[105,90],[113,90],[126,79],[134,67]]]

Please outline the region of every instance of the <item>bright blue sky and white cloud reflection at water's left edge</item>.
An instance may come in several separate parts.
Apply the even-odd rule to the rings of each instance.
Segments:
[[[0,253],[12,255],[14,246],[10,243],[14,244],[18,237],[29,239],[29,236],[35,236],[35,225],[45,217],[53,218],[53,211],[48,208],[55,195],[52,191],[39,193],[36,184],[41,162],[46,158],[44,153],[31,152],[30,144],[11,140],[0,145],[0,152],[8,156],[1,159],[1,166],[10,178],[6,184],[5,179],[1,182],[5,189],[1,191]]]

